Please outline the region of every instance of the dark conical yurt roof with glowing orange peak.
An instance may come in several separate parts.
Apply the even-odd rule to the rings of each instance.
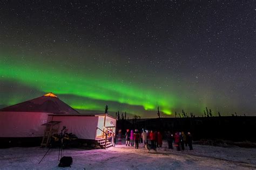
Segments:
[[[41,97],[34,98],[29,101],[11,105],[0,109],[0,111],[17,111],[17,112],[48,112],[52,114],[79,114],[78,111],[71,108],[68,104],[59,100],[53,94],[48,93]]]

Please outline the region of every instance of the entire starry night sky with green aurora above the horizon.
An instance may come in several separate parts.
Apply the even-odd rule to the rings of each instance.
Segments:
[[[0,2],[0,108],[256,116],[255,1]]]

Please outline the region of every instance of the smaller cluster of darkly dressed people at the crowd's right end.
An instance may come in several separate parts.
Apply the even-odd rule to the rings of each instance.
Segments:
[[[168,147],[170,149],[173,149],[173,141],[174,141],[174,146],[176,146],[177,151],[180,150],[185,150],[185,146],[190,147],[190,150],[193,150],[193,146],[192,146],[192,135],[190,132],[187,132],[185,134],[185,132],[176,132],[173,136],[172,133],[167,132],[166,135],[167,138],[167,142],[168,142]]]

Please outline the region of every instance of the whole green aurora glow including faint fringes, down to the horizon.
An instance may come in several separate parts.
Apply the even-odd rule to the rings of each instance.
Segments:
[[[231,105],[231,102],[223,100],[224,97],[212,103],[212,97],[215,95],[210,89],[211,86],[204,86],[199,93],[194,93],[193,90],[197,86],[191,84],[190,80],[181,80],[178,85],[172,83],[171,79],[175,79],[173,76],[170,76],[168,87],[156,88],[154,84],[164,77],[156,78],[152,75],[151,82],[144,81],[143,75],[149,75],[147,70],[138,75],[137,80],[130,80],[123,72],[114,74],[111,66],[104,69],[101,66],[95,67],[97,63],[91,63],[90,60],[89,63],[81,64],[77,63],[77,60],[51,60],[38,55],[31,58],[31,53],[28,56],[19,56],[10,52],[2,52],[0,56],[0,83],[4,87],[8,86],[8,82],[16,86],[14,90],[7,89],[9,97],[0,99],[3,106],[30,100],[49,92],[82,112],[102,112],[107,104],[112,113],[119,110],[143,117],[156,117],[158,106],[167,116],[176,111],[179,113],[182,109],[201,116],[207,106],[216,115],[218,110],[226,111],[220,107],[223,103]],[[118,69],[122,70],[122,67]],[[30,90],[30,95],[27,95],[24,89]],[[4,89],[0,89],[0,93],[3,95]],[[238,109],[234,106],[233,108]]]

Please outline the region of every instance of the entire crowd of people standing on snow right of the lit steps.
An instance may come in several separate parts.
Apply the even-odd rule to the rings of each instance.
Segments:
[[[118,131],[118,144],[122,144],[122,130]],[[174,135],[168,131],[165,133],[165,138],[168,142],[168,147],[173,149],[173,146],[177,148],[177,151],[185,150],[185,146],[188,146],[190,150],[193,150],[192,147],[192,135],[190,132],[176,132]],[[138,129],[130,130],[126,129],[125,132],[125,145],[134,146],[139,148],[139,143],[150,144],[152,147],[161,147],[163,145],[163,135],[160,131],[147,131],[142,130],[142,133],[139,133]],[[144,147],[143,146],[143,147]]]

